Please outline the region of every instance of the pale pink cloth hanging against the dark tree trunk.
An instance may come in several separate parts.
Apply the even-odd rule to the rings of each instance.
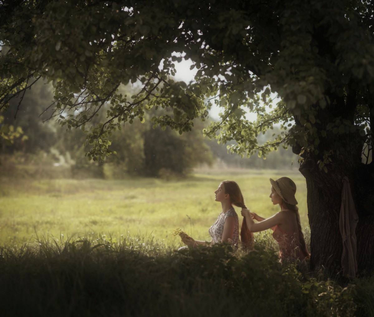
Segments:
[[[344,176],[343,190],[341,191],[341,206],[339,216],[339,228],[343,240],[343,253],[341,255],[341,267],[343,276],[355,277],[357,272],[356,260],[356,226],[358,215],[350,190],[349,179]]]

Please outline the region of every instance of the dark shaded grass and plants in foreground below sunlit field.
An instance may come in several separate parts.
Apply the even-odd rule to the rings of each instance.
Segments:
[[[302,276],[263,248],[92,236],[0,248],[2,316],[368,316],[374,290],[358,282]]]

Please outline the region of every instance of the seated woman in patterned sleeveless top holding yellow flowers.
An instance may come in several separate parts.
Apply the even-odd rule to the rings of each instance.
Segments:
[[[215,201],[219,201],[222,206],[222,212],[217,221],[209,228],[211,241],[198,241],[191,237],[182,237],[182,241],[189,248],[200,245],[209,245],[213,243],[229,242],[236,246],[239,245],[239,218],[234,206],[245,208],[244,198],[239,186],[234,181],[223,181],[214,192]],[[242,223],[242,243],[246,246],[252,243],[253,234],[248,231],[245,221]],[[243,241],[244,238],[244,241]]]

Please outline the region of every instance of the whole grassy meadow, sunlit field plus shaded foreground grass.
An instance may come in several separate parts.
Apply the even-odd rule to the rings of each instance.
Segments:
[[[297,184],[309,244],[297,172],[203,171],[171,180],[3,175],[1,316],[374,316],[374,276],[301,274],[278,262],[270,232],[257,234],[250,252],[225,244],[177,251],[176,228],[209,239],[220,181],[235,180],[246,205],[267,217],[278,211],[269,178],[284,175]]]

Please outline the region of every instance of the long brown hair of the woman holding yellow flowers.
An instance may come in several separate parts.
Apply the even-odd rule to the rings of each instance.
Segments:
[[[246,208],[244,204],[244,197],[242,191],[239,188],[239,185],[234,181],[223,181],[223,187],[225,189],[225,194],[230,195],[230,201],[234,206]],[[245,217],[243,217],[242,225],[240,228],[240,240],[242,247],[244,249],[253,249],[254,245],[254,235],[249,231]]]

